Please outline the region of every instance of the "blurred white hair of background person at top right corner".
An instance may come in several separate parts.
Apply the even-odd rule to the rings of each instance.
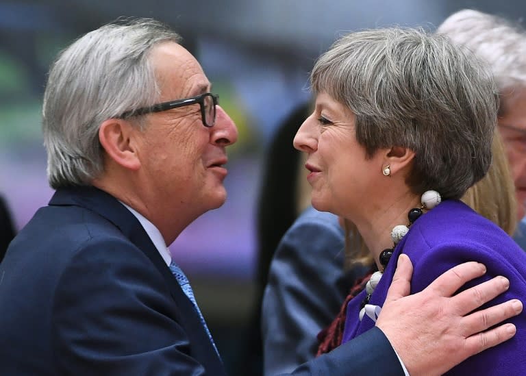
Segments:
[[[521,25],[465,9],[451,14],[436,32],[486,61],[501,92],[526,86],[526,33]]]

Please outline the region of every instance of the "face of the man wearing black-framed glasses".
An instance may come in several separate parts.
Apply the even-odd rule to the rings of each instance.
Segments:
[[[160,86],[160,102],[211,90],[197,60],[175,42],[155,47],[151,63]],[[221,206],[227,197],[225,148],[238,138],[231,118],[217,106],[215,125],[205,127],[199,104],[146,116],[139,153],[152,208],[161,208],[158,211],[167,216],[195,218]]]

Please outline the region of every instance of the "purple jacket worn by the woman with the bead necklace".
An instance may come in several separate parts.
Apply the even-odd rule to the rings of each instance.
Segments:
[[[526,301],[526,253],[497,225],[486,220],[460,201],[444,201],[418,218],[397,245],[384,275],[371,296],[370,304],[383,305],[395,273],[400,253],[407,254],[414,266],[411,292],[423,290],[452,266],[466,261],[486,265],[484,277],[466,284],[462,290],[497,275],[510,279],[510,289],[491,302],[508,299]],[[375,323],[364,317],[360,322],[362,291],[347,306],[342,343],[371,329]],[[486,307],[488,305],[484,305]],[[512,318],[517,333],[508,342],[462,362],[447,375],[526,375],[526,314]]]

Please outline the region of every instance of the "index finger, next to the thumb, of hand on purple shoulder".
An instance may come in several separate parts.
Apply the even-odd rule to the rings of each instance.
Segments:
[[[486,273],[486,266],[483,264],[474,261],[464,262],[464,264],[457,265],[442,273],[424,291],[431,289],[441,297],[451,297],[466,282],[480,277],[484,273]]]

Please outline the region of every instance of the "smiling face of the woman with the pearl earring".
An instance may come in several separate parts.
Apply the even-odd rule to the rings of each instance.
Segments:
[[[355,115],[327,93],[316,97],[314,112],[303,122],[294,147],[308,153],[312,205],[351,221],[366,210],[379,191],[382,155],[366,159],[365,148],[355,138]],[[368,201],[365,203],[364,201]],[[373,200],[377,201],[377,200]]]

